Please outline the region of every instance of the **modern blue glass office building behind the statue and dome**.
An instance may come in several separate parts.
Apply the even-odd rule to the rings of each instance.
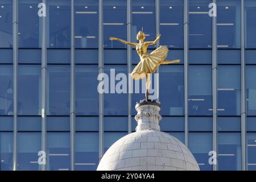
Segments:
[[[143,27],[162,34],[149,51],[181,60],[158,70],[161,130],[201,170],[255,170],[255,19],[255,0],[0,0],[0,169],[95,170],[135,131],[144,94],[99,94],[97,76],[132,71],[135,49],[109,37],[135,42]]]

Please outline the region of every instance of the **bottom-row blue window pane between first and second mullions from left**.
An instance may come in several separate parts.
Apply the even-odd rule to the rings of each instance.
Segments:
[[[39,170],[38,152],[41,150],[41,133],[18,133],[18,170]]]

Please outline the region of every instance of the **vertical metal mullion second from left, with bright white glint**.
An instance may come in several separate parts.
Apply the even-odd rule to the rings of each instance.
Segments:
[[[46,4],[46,0],[43,0]],[[48,13],[48,12],[47,12]],[[47,151],[47,47],[46,47],[46,17],[42,17],[42,151]],[[46,156],[47,157],[47,156]],[[47,160],[46,160],[47,161]],[[47,170],[47,163],[42,164],[42,171]]]

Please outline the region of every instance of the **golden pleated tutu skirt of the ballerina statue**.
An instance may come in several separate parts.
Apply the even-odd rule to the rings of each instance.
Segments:
[[[166,46],[161,46],[150,54],[145,53],[133,72],[131,72],[131,77],[134,80],[140,80],[144,78],[147,73],[154,73],[159,65],[162,64],[162,61],[166,59],[168,51]]]

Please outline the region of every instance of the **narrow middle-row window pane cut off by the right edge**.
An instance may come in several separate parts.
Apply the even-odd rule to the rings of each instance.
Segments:
[[[256,115],[256,65],[246,65],[247,115]]]

